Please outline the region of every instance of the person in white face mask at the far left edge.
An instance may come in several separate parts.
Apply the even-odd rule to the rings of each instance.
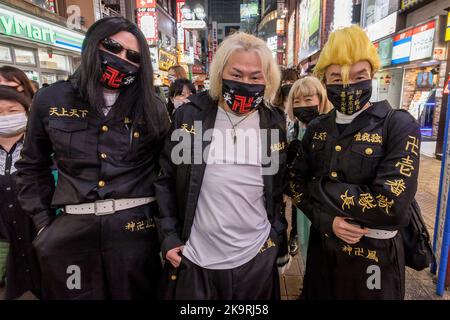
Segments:
[[[27,291],[39,295],[31,245],[36,231],[19,205],[16,186],[15,165],[23,148],[29,108],[27,97],[11,87],[0,86],[0,238],[10,247],[5,299],[16,299]]]

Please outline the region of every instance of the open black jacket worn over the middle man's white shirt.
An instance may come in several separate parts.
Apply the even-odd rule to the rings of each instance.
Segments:
[[[201,131],[205,132],[214,128],[218,110],[217,101],[211,100],[206,92],[191,96],[189,100],[190,103],[183,105],[175,112],[172,128],[161,154],[161,176],[155,182],[156,197],[160,207],[156,223],[163,256],[168,250],[184,244],[189,238],[206,168],[204,159],[201,159],[200,163],[189,161],[190,163],[175,164],[171,155],[172,151],[177,150],[178,141],[172,141],[171,134],[181,129],[194,136],[201,134]],[[271,156],[277,153],[277,157],[274,158],[278,159],[278,170],[273,175],[263,175],[263,181],[268,219],[275,230],[281,234],[286,228],[285,220],[280,216],[286,172],[286,120],[283,111],[275,107],[261,106],[258,112],[260,128],[267,129],[269,137],[272,130],[279,134],[278,141],[269,140],[267,149],[262,152]],[[198,128],[199,124],[202,126],[201,130]],[[190,157],[194,157],[196,146],[194,139],[191,140]],[[202,141],[201,154],[209,143],[210,141]]]

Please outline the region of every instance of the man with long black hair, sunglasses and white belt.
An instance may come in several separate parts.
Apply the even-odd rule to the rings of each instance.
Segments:
[[[148,45],[130,21],[106,18],[88,30],[81,61],[68,81],[37,93],[17,163],[19,201],[39,230],[42,296],[154,298],[153,180],[169,120]]]

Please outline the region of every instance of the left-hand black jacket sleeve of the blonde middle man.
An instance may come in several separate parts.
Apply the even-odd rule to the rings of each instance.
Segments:
[[[160,155],[161,172],[156,179],[155,194],[159,206],[159,211],[155,216],[158,235],[161,242],[161,251],[165,258],[167,251],[181,246],[184,242],[180,238],[180,223],[178,221],[178,206],[176,192],[177,166],[172,162],[172,149],[178,141],[172,141],[172,133],[177,126],[177,115],[171,124],[167,134],[163,150]]]

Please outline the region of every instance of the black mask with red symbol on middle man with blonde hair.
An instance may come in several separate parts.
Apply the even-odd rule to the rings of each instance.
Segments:
[[[263,84],[249,84],[223,79],[222,96],[227,106],[237,114],[255,110],[264,99]]]

